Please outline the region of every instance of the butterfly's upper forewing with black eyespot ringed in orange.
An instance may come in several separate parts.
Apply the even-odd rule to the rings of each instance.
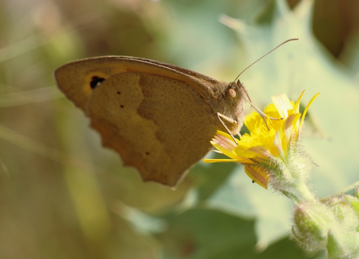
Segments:
[[[218,83],[194,71],[145,58],[104,56],[67,63],[55,70],[55,80],[67,98],[85,112],[86,104],[98,83],[122,72],[137,71],[178,79],[191,85],[204,98],[210,99],[210,84]]]

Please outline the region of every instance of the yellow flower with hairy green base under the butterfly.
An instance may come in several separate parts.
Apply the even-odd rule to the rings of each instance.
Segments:
[[[230,135],[217,131],[211,144],[230,159],[204,159],[204,162],[241,163],[246,174],[264,188],[267,188],[269,182],[278,182],[279,177],[284,177],[285,182],[291,184],[293,181],[291,182],[290,179],[295,178],[293,168],[291,173],[286,172],[285,168],[293,165],[290,162],[295,160],[293,156],[297,153],[297,141],[304,116],[313,100],[319,95],[317,93],[311,99],[300,119],[302,114],[299,113],[299,103],[303,93],[304,91],[296,103],[290,101],[285,94],[272,96],[273,103],[264,108],[264,113],[278,120],[266,118],[269,130],[260,114],[257,112],[248,114],[244,124],[251,134],[244,134],[240,140],[237,140],[238,145]],[[298,163],[296,165],[298,166]],[[278,179],[275,179],[275,176]],[[276,186],[276,188],[282,187]]]

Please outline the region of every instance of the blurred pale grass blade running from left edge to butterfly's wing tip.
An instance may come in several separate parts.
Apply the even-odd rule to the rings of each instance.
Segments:
[[[17,105],[45,102],[58,99],[64,95],[54,86],[47,86],[18,93],[0,94],[0,107],[12,107]]]

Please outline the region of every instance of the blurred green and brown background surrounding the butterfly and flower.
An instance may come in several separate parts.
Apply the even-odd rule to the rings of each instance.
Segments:
[[[143,183],[52,75],[127,55],[230,81],[293,37],[241,81],[260,108],[321,93],[302,140],[321,197],[359,180],[358,1],[1,0],[0,258],[323,258],[288,239],[293,204],[238,165],[199,163],[176,190]]]

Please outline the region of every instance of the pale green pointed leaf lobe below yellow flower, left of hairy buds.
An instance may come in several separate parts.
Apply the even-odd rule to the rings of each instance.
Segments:
[[[239,167],[208,200],[208,206],[243,218],[256,219],[259,250],[283,238],[290,230],[293,203],[280,194],[273,194],[253,184]]]

